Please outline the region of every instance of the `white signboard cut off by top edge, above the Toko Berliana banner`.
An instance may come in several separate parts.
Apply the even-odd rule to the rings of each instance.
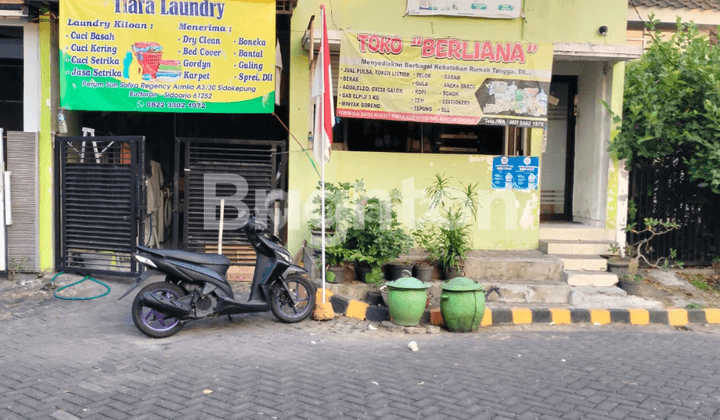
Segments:
[[[409,15],[445,15],[514,19],[520,17],[522,0],[408,0]]]

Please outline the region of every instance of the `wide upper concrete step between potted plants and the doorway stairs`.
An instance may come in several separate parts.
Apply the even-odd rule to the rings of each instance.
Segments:
[[[465,259],[465,277],[480,282],[561,282],[562,261],[539,250],[471,251]]]

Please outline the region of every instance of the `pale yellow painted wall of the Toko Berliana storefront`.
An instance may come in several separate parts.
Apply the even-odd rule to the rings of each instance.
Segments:
[[[344,0],[332,5],[321,1],[298,2],[292,18],[290,72],[290,131],[307,147],[309,131],[309,57],[302,37],[311,16],[326,5],[329,30],[368,31],[407,36],[456,36],[479,40],[607,43],[625,41],[627,4],[608,2],[568,2],[564,0],[525,0],[525,19],[492,20],[442,16],[405,16],[406,2]],[[372,11],[372,12],[370,12]],[[316,20],[318,22],[319,20]],[[598,39],[600,26],[608,26],[608,35]],[[614,90],[622,86],[615,87]],[[601,106],[598,104],[598,106]],[[352,133],[349,133],[352,136]],[[540,156],[543,130],[531,133],[533,156]],[[492,156],[441,155],[418,153],[380,153],[333,151],[326,167],[326,180],[347,182],[365,179],[368,191],[409,191],[427,187],[436,172],[454,181],[479,183],[479,213],[474,223],[473,246],[476,249],[536,249],[538,247],[539,191],[520,192],[491,188]],[[542,165],[542,162],[541,162]],[[319,177],[309,157],[295,142],[290,142],[288,245],[295,252],[309,238],[309,205]],[[405,193],[405,191],[403,191]],[[616,194],[616,190],[613,190]],[[419,193],[418,193],[419,194]],[[413,214],[406,208],[411,198],[404,194],[398,214],[406,227]],[[427,203],[414,200],[414,216],[419,217]],[[613,214],[614,216],[614,214]]]

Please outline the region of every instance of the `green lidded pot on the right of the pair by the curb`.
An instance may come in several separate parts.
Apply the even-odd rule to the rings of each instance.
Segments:
[[[440,285],[440,312],[453,332],[473,332],[485,315],[485,289],[475,280],[456,277]]]

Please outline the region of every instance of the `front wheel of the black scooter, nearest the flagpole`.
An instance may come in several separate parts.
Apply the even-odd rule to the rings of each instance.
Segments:
[[[300,322],[315,309],[315,287],[302,276],[288,276],[285,284],[287,289],[280,281],[276,281],[270,288],[270,310],[282,322]],[[295,305],[291,295],[297,302]]]

